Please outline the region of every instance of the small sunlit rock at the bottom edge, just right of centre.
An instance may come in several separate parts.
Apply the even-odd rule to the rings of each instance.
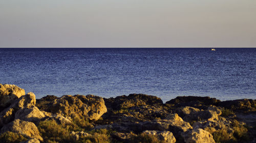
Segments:
[[[172,132],[169,131],[144,131],[143,133],[157,136],[159,140],[162,140],[166,143],[174,143],[176,142],[176,138],[174,137]]]

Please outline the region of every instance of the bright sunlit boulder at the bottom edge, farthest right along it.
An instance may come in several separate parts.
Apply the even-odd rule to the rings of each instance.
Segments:
[[[181,135],[186,143],[215,143],[212,135],[209,132],[200,128],[195,130],[188,130]]]

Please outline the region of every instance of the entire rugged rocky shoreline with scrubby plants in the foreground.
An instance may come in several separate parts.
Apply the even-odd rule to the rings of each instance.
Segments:
[[[256,142],[256,100],[130,94],[36,99],[0,84],[1,142]]]

